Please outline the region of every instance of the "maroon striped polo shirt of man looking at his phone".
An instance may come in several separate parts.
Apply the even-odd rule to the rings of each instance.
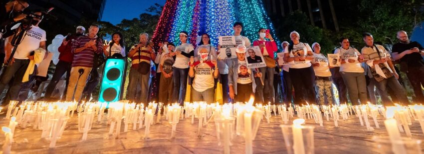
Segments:
[[[88,37],[88,34],[86,34],[86,35],[78,37],[77,39],[75,39],[75,41],[72,42],[71,52],[74,54],[72,67],[92,68],[94,53],[101,54],[103,52],[103,42],[100,40],[100,41],[96,41],[97,50],[94,50],[93,48],[88,47],[78,53],[75,53],[75,49],[83,47],[90,40],[97,40],[97,35],[94,38],[90,39]]]

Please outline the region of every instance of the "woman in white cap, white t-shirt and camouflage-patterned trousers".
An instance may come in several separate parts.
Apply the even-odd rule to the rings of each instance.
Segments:
[[[315,72],[315,91],[318,92],[318,104],[324,105],[325,97],[327,97],[328,104],[333,105],[333,94],[331,92],[331,80],[330,66],[328,65],[328,59],[321,54],[321,46],[318,43],[312,44],[314,50],[314,59],[312,66]],[[324,96],[325,94],[325,96]]]

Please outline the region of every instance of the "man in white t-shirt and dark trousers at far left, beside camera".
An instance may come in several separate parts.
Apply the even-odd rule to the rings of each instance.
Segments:
[[[3,68],[3,72],[0,77],[0,91],[3,91],[6,84],[13,78],[12,85],[9,88],[10,99],[16,100],[21,87],[22,81],[28,80],[28,74],[31,74],[31,71],[35,67],[35,63],[39,61],[39,57],[45,58],[45,41],[46,41],[46,32],[38,27],[38,24],[41,22],[43,16],[42,12],[39,10],[34,11],[33,13],[34,24],[24,32],[24,37],[21,40],[21,43],[17,46],[16,52],[14,55],[11,55],[13,46],[11,40],[13,36],[6,38],[5,45],[5,59],[4,63],[7,63],[7,60],[10,56],[11,61],[7,64],[6,68]],[[20,28],[18,28],[19,30]],[[41,49],[39,49],[41,48]],[[31,53],[34,52],[32,55]],[[35,59],[34,59],[35,58]],[[34,63],[35,60],[35,63]],[[30,63],[31,62],[31,63]],[[39,63],[39,62],[38,62]],[[29,65],[31,64],[31,65]],[[27,70],[28,69],[28,70]],[[35,72],[35,71],[33,71]],[[26,75],[24,77],[24,75]]]

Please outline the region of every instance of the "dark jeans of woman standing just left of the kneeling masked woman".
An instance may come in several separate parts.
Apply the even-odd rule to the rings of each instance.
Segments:
[[[178,102],[180,104],[184,103],[184,98],[186,97],[187,89],[187,77],[189,76],[189,69],[172,69],[173,80],[174,80],[174,91],[172,94],[171,102]]]

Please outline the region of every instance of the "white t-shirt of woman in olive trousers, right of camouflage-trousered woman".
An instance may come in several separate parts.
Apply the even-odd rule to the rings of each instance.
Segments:
[[[349,47],[348,50],[345,50],[343,48],[337,48],[336,51],[334,51],[334,54],[339,54],[342,56],[342,59],[352,59],[355,60],[355,63],[344,63],[340,66],[340,72],[355,72],[355,73],[363,73],[364,68],[362,68],[361,63],[358,61],[358,56],[361,55],[361,53],[358,52],[355,48]]]

